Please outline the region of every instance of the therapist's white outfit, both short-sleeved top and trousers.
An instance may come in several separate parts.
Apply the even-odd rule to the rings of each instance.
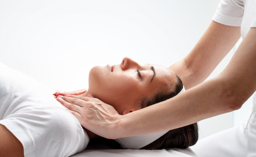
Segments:
[[[222,0],[213,20],[229,26],[241,26],[241,36],[244,38],[251,27],[256,27],[256,1]],[[256,93],[253,96],[253,111],[251,116],[248,115],[249,119],[236,127],[203,138],[190,148],[198,156],[256,156],[255,109]]]

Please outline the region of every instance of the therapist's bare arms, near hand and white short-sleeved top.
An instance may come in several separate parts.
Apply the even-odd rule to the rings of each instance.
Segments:
[[[255,27],[256,1],[222,0],[192,51],[169,67],[181,78],[186,92],[126,115],[119,115],[112,106],[91,97],[63,97],[67,102],[62,104],[82,126],[110,139],[171,130],[237,110],[256,90]],[[227,67],[203,82],[241,35],[242,43]],[[71,97],[84,101],[69,103],[74,100]],[[255,125],[249,122],[245,134],[255,133]]]

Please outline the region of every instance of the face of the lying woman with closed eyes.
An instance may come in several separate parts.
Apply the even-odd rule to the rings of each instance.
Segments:
[[[141,66],[125,57],[119,65],[93,67],[89,73],[88,92],[111,104],[119,114],[127,114],[141,109],[142,96],[153,96],[166,87],[172,91],[174,82],[176,77],[168,68],[151,64]]]

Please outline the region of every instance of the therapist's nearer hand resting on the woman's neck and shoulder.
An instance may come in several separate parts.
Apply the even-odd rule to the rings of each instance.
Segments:
[[[59,95],[57,100],[86,129],[101,137],[116,139],[115,135],[113,135],[113,130],[122,115],[119,115],[113,106],[93,98],[90,94],[87,97],[69,94],[66,96]]]

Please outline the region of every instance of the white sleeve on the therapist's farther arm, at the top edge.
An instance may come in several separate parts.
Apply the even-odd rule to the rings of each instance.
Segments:
[[[243,0],[221,0],[212,19],[228,26],[241,26],[243,13]]]

